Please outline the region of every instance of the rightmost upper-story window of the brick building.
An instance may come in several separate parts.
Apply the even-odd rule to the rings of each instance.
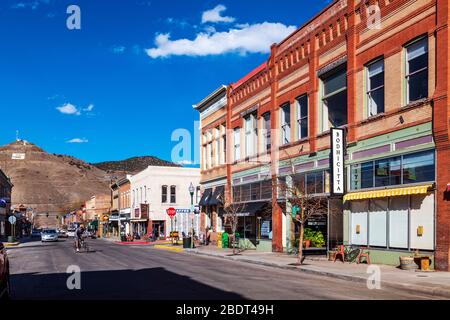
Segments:
[[[428,38],[406,47],[407,103],[428,97]]]

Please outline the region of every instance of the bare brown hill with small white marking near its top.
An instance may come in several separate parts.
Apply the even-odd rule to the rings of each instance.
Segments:
[[[50,221],[94,194],[110,192],[110,176],[103,170],[74,157],[49,154],[24,140],[0,147],[0,167],[14,184],[12,203],[48,212]]]

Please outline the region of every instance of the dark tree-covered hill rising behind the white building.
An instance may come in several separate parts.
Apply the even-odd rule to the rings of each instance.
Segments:
[[[133,157],[121,161],[93,163],[92,165],[114,175],[126,173],[135,174],[146,169],[148,166],[179,167],[179,165],[173,162],[162,160],[153,156]]]

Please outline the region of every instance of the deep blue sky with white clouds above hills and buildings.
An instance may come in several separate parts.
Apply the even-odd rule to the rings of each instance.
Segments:
[[[88,162],[170,160],[192,104],[237,81],[330,0],[2,0],[0,144]],[[81,30],[69,30],[71,4]],[[197,150],[195,150],[197,151]]]

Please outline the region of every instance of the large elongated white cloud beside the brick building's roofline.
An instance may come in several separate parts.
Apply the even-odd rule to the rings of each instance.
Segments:
[[[295,26],[263,22],[241,25],[226,32],[198,33],[194,40],[171,40],[170,34],[159,34],[155,48],[147,49],[151,58],[169,56],[207,56],[229,52],[268,53],[273,43],[281,41],[296,30]]]

